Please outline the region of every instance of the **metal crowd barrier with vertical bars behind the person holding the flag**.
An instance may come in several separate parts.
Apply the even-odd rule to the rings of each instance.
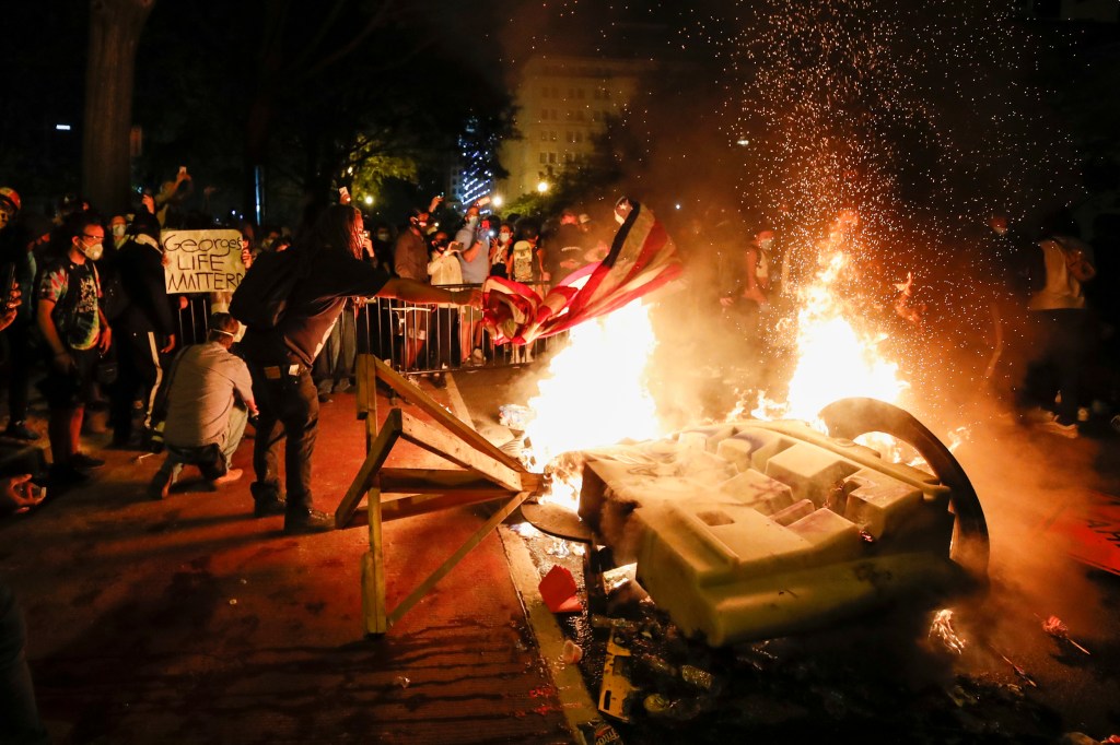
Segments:
[[[445,289],[454,291],[478,286],[460,284]],[[543,292],[548,285],[538,283],[535,289]],[[184,296],[187,302],[178,312],[178,338],[184,346],[203,342],[214,304],[207,294]],[[422,305],[388,298],[368,298],[355,304],[356,309],[349,311],[356,313],[354,351],[374,355],[403,375],[523,365],[533,361],[538,355],[554,351],[564,343],[567,336],[538,339],[524,347],[495,345],[482,326],[482,311],[454,305]],[[351,342],[344,338],[343,343]],[[344,358],[353,357],[353,353],[344,353]]]

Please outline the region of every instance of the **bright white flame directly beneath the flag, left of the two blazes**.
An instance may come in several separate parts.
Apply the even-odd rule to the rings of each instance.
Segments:
[[[650,311],[638,300],[572,328],[540,380],[540,395],[529,400],[534,416],[525,425],[531,458],[551,464],[549,501],[578,501],[580,469],[553,462],[562,453],[665,434],[645,385],[655,346]]]

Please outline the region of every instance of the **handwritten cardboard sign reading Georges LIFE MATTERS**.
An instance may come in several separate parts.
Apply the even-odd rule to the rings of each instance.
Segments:
[[[230,229],[164,230],[167,294],[233,292],[245,276],[241,233]]]

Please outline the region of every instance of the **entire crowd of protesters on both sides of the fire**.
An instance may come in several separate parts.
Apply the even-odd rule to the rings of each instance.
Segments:
[[[482,283],[496,276],[543,293],[605,257],[615,228],[568,209],[543,223],[503,216],[485,202],[465,205],[449,225],[439,197],[399,226],[367,224],[346,199],[309,208],[293,228],[218,226],[205,208],[184,210],[192,194],[192,177],[181,169],[143,192],[130,214],[101,215],[65,197],[47,225],[24,209],[16,189],[0,188],[3,436],[30,443],[45,434],[52,455],[49,473],[35,481],[7,474],[0,509],[35,507],[43,483],[65,490],[91,479],[104,461],[83,449],[82,434],[94,426],[90,413],[106,412],[112,447],[166,451],[148,487],[153,499],[167,497],[185,466],[215,487],[237,480],[233,454],[252,423],[254,515],[283,515],[288,532],[330,529],[333,517],[315,510],[311,497],[318,406],[354,385],[356,355],[392,359],[404,370],[483,365],[489,350]],[[841,245],[857,225],[853,213],[838,216],[820,249]],[[232,292],[169,294],[160,234],[170,227],[240,230],[246,270],[291,252],[302,279],[279,326],[246,329],[230,314]],[[793,282],[785,236],[773,225],[735,219],[678,227],[685,302],[697,317],[722,314],[734,336],[764,339],[772,305]],[[1109,241],[1107,225],[1098,233],[1100,243]],[[1019,419],[1066,437],[1077,436],[1091,414],[1113,416],[1117,380],[1096,371],[1118,321],[1116,299],[1109,284],[1092,291],[1094,282],[1101,285],[1093,244],[1071,220],[1052,220],[1040,235],[1026,236],[1009,228],[1005,215],[992,215],[974,253],[972,268],[986,277],[982,291],[1000,337],[986,371],[997,398]],[[921,323],[909,281],[893,286],[897,296],[886,307]],[[769,352],[749,346],[756,361],[765,364]],[[519,355],[531,359],[531,350]],[[445,385],[439,372],[430,381]],[[32,389],[45,402],[45,421],[31,415]],[[0,621],[19,631],[12,609],[0,593]],[[18,682],[26,672],[21,652],[0,652],[0,675]],[[26,710],[21,716],[11,720],[34,729],[34,700],[30,718]]]

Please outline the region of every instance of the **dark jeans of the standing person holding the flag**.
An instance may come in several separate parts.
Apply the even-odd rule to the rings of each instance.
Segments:
[[[269,367],[251,362],[253,395],[260,417],[253,441],[253,496],[280,493],[280,441],[284,445],[288,515],[306,515],[311,509],[311,453],[319,430],[319,396],[310,370],[298,366],[289,375],[287,365]]]

